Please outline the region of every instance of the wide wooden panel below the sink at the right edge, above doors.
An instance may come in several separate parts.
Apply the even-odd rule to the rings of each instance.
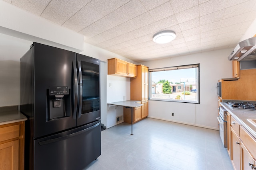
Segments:
[[[242,126],[240,127],[240,139],[252,156],[256,158],[256,139]]]

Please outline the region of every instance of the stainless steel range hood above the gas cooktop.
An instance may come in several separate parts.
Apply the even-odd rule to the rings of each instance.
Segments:
[[[241,41],[228,56],[228,60],[256,60],[256,37]]]

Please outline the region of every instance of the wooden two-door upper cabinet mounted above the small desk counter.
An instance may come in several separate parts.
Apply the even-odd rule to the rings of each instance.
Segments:
[[[117,58],[108,59],[108,74],[124,77],[136,77],[137,68],[135,64]]]

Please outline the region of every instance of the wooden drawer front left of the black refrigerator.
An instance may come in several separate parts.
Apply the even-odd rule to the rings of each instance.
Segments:
[[[0,142],[20,136],[20,125],[13,125],[0,128]]]

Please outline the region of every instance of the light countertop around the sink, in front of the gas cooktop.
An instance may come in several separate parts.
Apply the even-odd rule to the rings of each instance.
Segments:
[[[256,138],[256,126],[252,125],[247,119],[256,119],[256,110],[242,110],[242,109],[232,109],[227,103],[220,103],[235,119],[240,125],[242,125],[247,131],[249,131],[252,136]]]

